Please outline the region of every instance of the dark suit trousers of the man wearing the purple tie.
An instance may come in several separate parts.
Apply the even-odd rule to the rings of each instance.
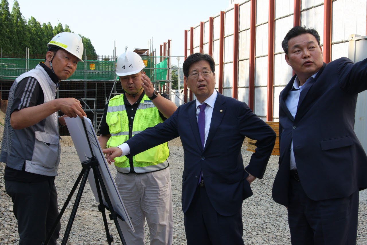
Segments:
[[[233,216],[218,214],[205,187],[197,187],[184,214],[188,245],[243,245],[242,207]]]

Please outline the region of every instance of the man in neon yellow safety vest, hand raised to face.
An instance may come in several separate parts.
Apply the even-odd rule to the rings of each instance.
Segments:
[[[158,94],[143,68],[142,58],[124,52],[116,62],[116,74],[124,93],[109,100],[103,113],[98,141],[102,149],[127,141],[148,127],[162,123],[177,106],[167,94]],[[117,157],[115,182],[135,232],[120,222],[127,244],[145,244],[144,223],[148,222],[151,245],[170,245],[173,211],[167,142],[137,156]]]

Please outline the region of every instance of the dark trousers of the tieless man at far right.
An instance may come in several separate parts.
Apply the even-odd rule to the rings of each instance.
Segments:
[[[309,199],[301,182],[290,180],[288,224],[292,245],[356,244],[359,192],[346,198]]]

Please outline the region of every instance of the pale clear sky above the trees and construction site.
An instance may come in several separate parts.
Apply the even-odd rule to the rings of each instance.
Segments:
[[[10,11],[14,0],[8,0]],[[135,48],[146,49],[171,39],[172,56],[183,56],[184,31],[229,8],[229,0],[18,0],[23,17],[69,25],[73,32],[90,38],[98,55],[117,55]],[[172,62],[175,64],[175,62]],[[182,62],[181,62],[182,63]],[[180,65],[181,66],[181,65]]]

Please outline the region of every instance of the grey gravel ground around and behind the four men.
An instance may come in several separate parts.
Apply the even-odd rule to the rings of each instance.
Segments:
[[[0,136],[3,127],[0,126]],[[61,142],[61,163],[59,167],[59,176],[55,179],[59,196],[59,209],[62,208],[67,196],[73,187],[76,178],[81,171],[81,164],[77,157],[74,145],[70,136],[64,136],[65,140]],[[183,213],[181,210],[181,187],[183,170],[183,150],[179,139],[169,142],[170,173],[172,185],[172,200],[174,212],[174,238],[173,244],[186,244],[185,229],[183,226]],[[250,160],[252,152],[248,152],[244,146],[242,155],[244,162]],[[271,197],[271,189],[274,177],[277,172],[278,156],[271,156],[264,179],[255,180],[252,184],[254,195],[243,202],[243,240],[244,244],[279,244],[286,245],[290,243],[290,232],[287,223],[286,208],[275,203]],[[17,220],[12,213],[12,202],[5,192],[4,187],[4,163],[0,163],[0,245],[18,244],[19,237],[17,231]],[[115,176],[116,170],[110,167],[112,175]],[[359,227],[358,227],[358,245],[367,244],[367,201],[366,191],[360,192],[359,206]],[[70,217],[76,194],[69,203],[61,219],[61,232],[59,244]],[[108,244],[106,242],[106,233],[103,226],[102,215],[98,212],[98,203],[92,194],[89,184],[84,188],[83,196],[76,213],[69,240],[67,244],[72,245],[91,245]],[[119,234],[113,221],[108,220],[110,234],[113,235],[112,244],[121,244]],[[145,227],[146,244],[150,244],[149,230]]]

